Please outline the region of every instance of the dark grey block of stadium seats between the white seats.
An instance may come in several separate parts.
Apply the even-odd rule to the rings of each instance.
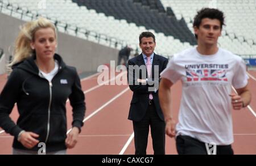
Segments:
[[[164,33],[166,36],[173,36],[181,42],[196,44],[195,37],[184,20],[168,17],[159,0],[73,0],[73,2],[79,6],[86,6],[89,10],[102,12],[106,16],[114,16],[115,19],[135,23],[138,27],[144,26],[146,29],[154,29],[155,32]]]

